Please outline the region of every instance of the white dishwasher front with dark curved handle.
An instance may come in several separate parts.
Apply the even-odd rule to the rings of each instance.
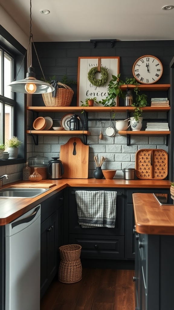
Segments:
[[[5,227],[5,310],[40,310],[41,205]]]

